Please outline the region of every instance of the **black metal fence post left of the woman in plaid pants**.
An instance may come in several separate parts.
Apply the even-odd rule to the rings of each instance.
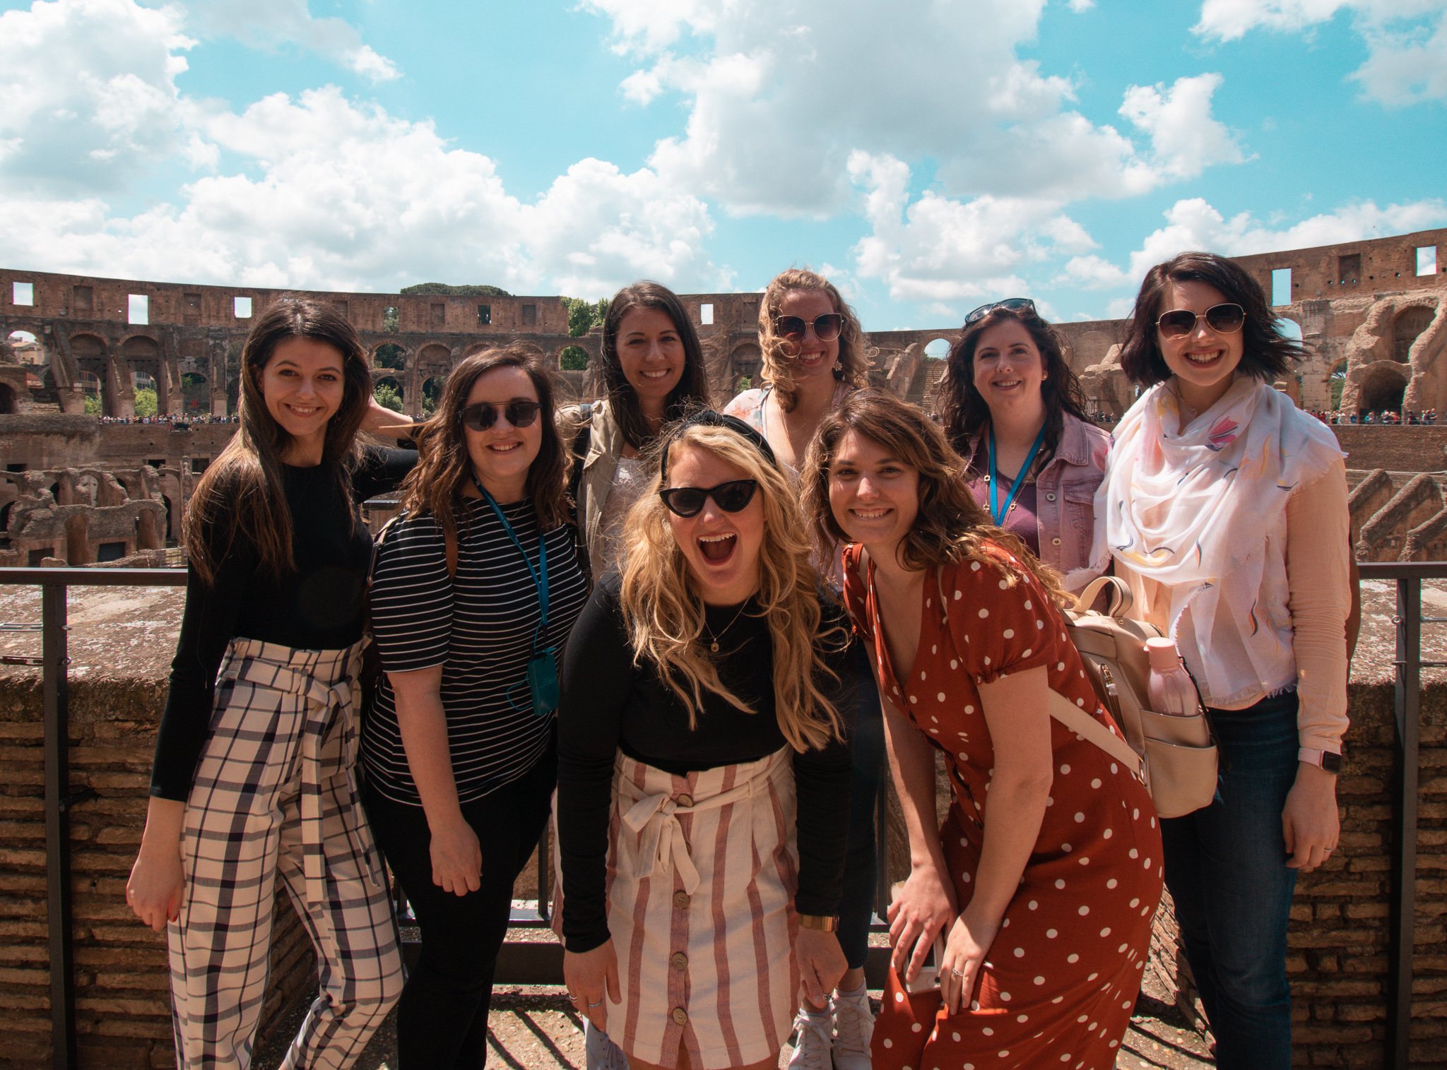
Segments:
[[[75,1066],[75,985],[71,949],[71,775],[65,584],[41,587],[41,658],[45,693],[45,853],[51,936],[51,1064]]]

